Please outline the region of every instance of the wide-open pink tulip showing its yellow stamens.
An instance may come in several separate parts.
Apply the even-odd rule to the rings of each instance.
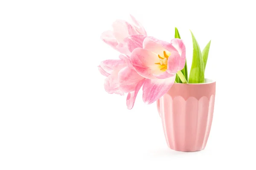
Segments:
[[[143,48],[135,48],[131,53],[132,65],[138,74],[145,77],[143,101],[151,104],[166,94],[175,81],[177,71],[183,69],[186,48],[180,39],[171,43],[146,37]],[[131,81],[131,78],[127,80]]]

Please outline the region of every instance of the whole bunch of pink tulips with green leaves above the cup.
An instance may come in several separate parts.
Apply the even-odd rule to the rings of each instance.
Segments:
[[[174,83],[204,83],[204,70],[211,41],[201,51],[192,34],[193,59],[190,74],[186,65],[186,48],[175,28],[170,42],[147,35],[144,27],[131,16],[133,23],[116,20],[113,31],[101,39],[120,52],[119,59],[102,61],[99,72],[106,76],[104,88],[109,94],[128,93],[126,105],[133,108],[136,96],[143,90],[143,101],[151,104],[166,94]]]

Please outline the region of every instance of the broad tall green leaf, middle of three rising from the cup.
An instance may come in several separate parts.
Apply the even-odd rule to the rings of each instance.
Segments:
[[[193,42],[193,59],[189,74],[189,83],[204,83],[204,59],[194,34],[192,31],[190,32]]]

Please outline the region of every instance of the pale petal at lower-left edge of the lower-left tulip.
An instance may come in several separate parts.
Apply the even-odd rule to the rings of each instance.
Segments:
[[[105,79],[104,88],[109,94],[117,93],[122,95],[123,93],[119,89],[118,72],[113,71],[110,76]]]

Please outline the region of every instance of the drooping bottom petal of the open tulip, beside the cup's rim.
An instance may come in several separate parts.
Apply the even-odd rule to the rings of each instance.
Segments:
[[[175,76],[167,79],[146,79],[143,85],[143,101],[151,104],[166,94],[172,87]]]

